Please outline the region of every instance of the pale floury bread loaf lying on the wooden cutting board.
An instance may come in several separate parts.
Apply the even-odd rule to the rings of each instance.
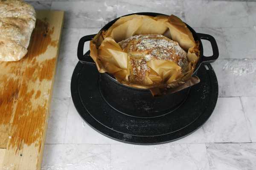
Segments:
[[[35,9],[28,3],[0,0],[0,61],[17,61],[26,55],[35,20]]]

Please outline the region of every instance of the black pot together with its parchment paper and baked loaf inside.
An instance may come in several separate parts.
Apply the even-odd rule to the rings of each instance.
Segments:
[[[175,16],[127,16],[111,21],[98,34],[82,37],[79,60],[96,64],[102,97],[116,110],[137,117],[169,113],[186,99],[189,87],[199,82],[198,68],[218,58],[216,41],[210,35],[196,33]],[[123,27],[134,20],[139,23],[136,29]],[[163,26],[155,27],[156,23],[149,21]],[[204,57],[201,39],[211,42],[212,56]],[[91,51],[84,54],[84,42],[89,40]]]

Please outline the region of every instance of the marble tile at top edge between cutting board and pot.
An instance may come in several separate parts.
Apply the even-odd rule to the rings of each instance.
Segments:
[[[52,2],[52,10],[65,11],[66,28],[102,28],[116,18],[117,1],[64,1]]]

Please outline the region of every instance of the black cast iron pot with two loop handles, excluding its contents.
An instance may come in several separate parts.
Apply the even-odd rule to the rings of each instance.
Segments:
[[[149,15],[153,17],[157,15],[165,15],[151,12],[141,12],[134,14]],[[101,30],[107,30],[118,19],[119,18],[112,20],[107,25],[105,25]],[[201,56],[195,67],[195,71],[193,72],[193,75],[196,75],[199,67],[214,62],[218,58],[218,46],[214,37],[212,37],[211,35],[196,33],[195,30],[192,29],[189,25],[186,24],[186,26],[192,32],[194,39],[198,40],[200,43]],[[78,59],[82,64],[88,65],[88,67],[90,65],[96,67],[96,65],[93,59],[90,57],[90,51],[87,51],[84,54],[84,42],[92,40],[95,35],[96,34],[92,34],[82,37],[79,40],[78,44]],[[201,40],[208,40],[211,43],[212,56],[204,56]],[[96,69],[95,71],[98,70]],[[183,102],[186,101],[186,97],[188,96],[191,88],[185,88],[173,94],[169,94],[167,91],[167,94],[165,95],[153,97],[148,89],[133,88],[128,87],[126,85],[122,85],[108,73],[99,74],[98,84],[100,94],[102,95],[105,102],[108,103],[108,105],[110,105],[113,109],[119,111],[120,113],[140,118],[163,116],[174,111],[175,109],[179,108],[179,106],[182,105]]]

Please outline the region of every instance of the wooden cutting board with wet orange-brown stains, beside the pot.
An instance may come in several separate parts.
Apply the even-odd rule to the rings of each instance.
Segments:
[[[26,56],[0,62],[0,170],[41,169],[63,23],[64,11],[37,11]]]

